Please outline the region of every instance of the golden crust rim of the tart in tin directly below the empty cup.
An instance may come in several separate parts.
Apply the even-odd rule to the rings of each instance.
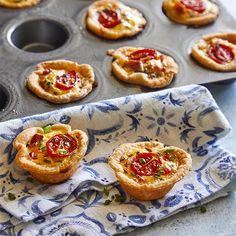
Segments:
[[[82,75],[83,85],[79,90],[71,91],[66,94],[54,95],[43,89],[39,83],[39,75],[44,69],[64,69],[66,71],[74,70]],[[78,64],[68,60],[45,61],[36,66],[36,70],[32,72],[26,79],[26,87],[38,97],[52,103],[69,103],[77,101],[87,96],[93,89],[95,75],[93,68],[87,64]]]

